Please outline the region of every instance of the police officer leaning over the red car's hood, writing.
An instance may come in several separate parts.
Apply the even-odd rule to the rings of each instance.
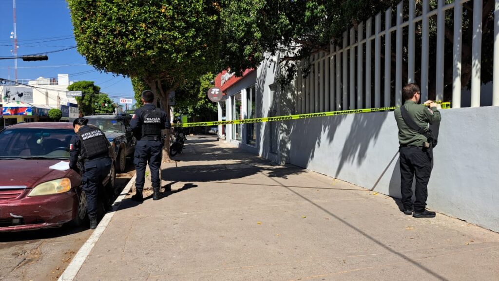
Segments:
[[[71,139],[69,167],[79,172],[78,161],[82,162],[83,191],[87,198],[87,213],[90,228],[97,227],[97,196],[104,198],[107,204],[108,196],[102,187],[102,181],[109,175],[111,144],[105,134],[94,126],[88,126],[88,119],[77,118],[73,121],[75,136]],[[78,160],[78,156],[80,156]],[[102,194],[99,194],[99,188]]]

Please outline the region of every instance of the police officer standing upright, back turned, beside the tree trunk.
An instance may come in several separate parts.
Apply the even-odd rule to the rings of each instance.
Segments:
[[[149,163],[151,182],[153,187],[153,200],[160,199],[161,180],[159,170],[161,166],[162,138],[161,130],[171,127],[168,115],[154,106],[154,94],[150,90],[142,92],[144,106],[135,110],[130,126],[137,137],[134,161],[137,178],[135,180],[136,193],[132,200],[143,201],[146,165]]]

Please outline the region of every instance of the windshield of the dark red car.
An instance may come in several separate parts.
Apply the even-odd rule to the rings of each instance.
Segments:
[[[23,128],[0,132],[0,160],[22,158],[68,159],[74,131]]]

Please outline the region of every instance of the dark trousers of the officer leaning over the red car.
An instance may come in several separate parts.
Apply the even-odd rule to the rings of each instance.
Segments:
[[[87,212],[88,217],[95,219],[97,215],[98,196],[105,203],[109,200],[111,191],[105,190],[102,186],[102,181],[109,175],[111,170],[111,159],[109,157],[88,160],[83,165],[83,191],[87,196]]]

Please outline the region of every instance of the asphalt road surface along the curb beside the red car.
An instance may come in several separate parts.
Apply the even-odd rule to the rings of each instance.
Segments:
[[[128,173],[117,175],[118,188],[123,189],[132,178],[132,169],[127,167]],[[88,227],[70,226],[0,234],[0,280],[57,280],[91,234]]]

